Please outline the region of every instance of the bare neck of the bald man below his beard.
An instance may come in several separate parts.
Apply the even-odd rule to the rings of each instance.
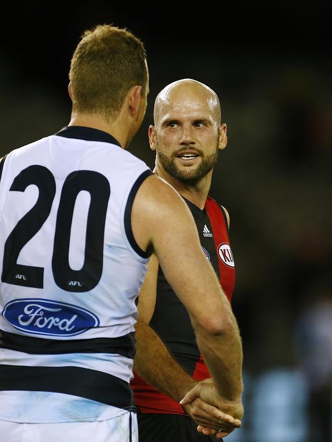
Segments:
[[[180,181],[165,171],[158,162],[156,162],[156,167],[154,169],[154,172],[160,178],[163,178],[171,184],[182,197],[195,204],[195,206],[199,207],[201,210],[205,207],[206,198],[211,187],[212,171],[213,169],[199,180]]]

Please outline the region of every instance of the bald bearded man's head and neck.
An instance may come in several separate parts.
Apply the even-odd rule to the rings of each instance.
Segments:
[[[227,126],[221,124],[218,96],[194,80],[171,83],[156,98],[154,118],[149,140],[150,148],[156,151],[157,175],[203,209],[218,152],[227,145]],[[178,156],[182,153],[197,156],[184,160]],[[176,177],[168,171],[168,161]]]

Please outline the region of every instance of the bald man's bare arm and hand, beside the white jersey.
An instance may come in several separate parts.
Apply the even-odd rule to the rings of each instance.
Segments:
[[[134,369],[150,385],[179,402],[187,391],[197,385],[197,381],[192,379],[173,359],[159,336],[149,325],[156,303],[158,267],[159,262],[156,255],[153,254],[138,298]],[[241,425],[239,421],[234,421],[231,415],[203,402],[200,398],[195,398],[183,408],[202,428],[220,429],[225,427],[228,434]]]

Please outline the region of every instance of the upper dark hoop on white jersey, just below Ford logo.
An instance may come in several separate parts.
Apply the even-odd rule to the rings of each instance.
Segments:
[[[133,359],[135,333],[116,338],[45,339],[22,336],[0,330],[0,348],[30,355],[58,355],[68,353],[110,353]]]

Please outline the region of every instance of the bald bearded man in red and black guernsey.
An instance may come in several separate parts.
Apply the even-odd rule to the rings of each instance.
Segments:
[[[228,238],[229,215],[208,196],[219,151],[227,144],[226,129],[217,94],[198,81],[185,79],[158,94],[149,139],[150,148],[156,152],[154,172],[180,193],[191,210],[202,253],[214,267],[230,302],[235,269]],[[176,234],[175,230],[174,237]],[[206,441],[212,437],[216,440],[212,434],[218,439],[229,434],[236,426],[221,423],[218,411],[241,419],[241,397],[235,401],[219,397],[218,404],[214,400],[211,381],[204,381],[210,374],[189,315],[155,255],[139,293],[138,312],[131,386],[139,409],[140,442]],[[240,353],[238,362],[241,365]],[[180,405],[188,390],[191,392]]]

